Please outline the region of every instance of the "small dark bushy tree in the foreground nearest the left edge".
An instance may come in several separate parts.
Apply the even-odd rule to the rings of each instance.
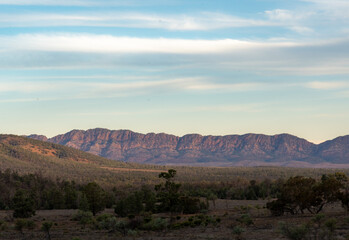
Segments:
[[[29,218],[35,215],[35,203],[27,192],[20,189],[17,190],[13,199],[13,217],[15,218]]]

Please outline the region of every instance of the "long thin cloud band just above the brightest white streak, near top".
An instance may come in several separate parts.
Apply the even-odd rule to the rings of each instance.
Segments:
[[[212,30],[235,27],[275,26],[273,21],[246,19],[237,16],[202,12],[198,14],[151,14],[136,12],[113,12],[96,14],[3,14],[0,26],[38,27],[38,26],[93,26],[93,27],[124,27],[154,28],[167,30]]]

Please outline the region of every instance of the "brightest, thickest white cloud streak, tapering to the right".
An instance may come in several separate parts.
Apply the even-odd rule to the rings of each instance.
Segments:
[[[0,50],[90,52],[90,53],[176,53],[208,54],[265,47],[294,47],[296,42],[256,42],[234,39],[192,40],[130,38],[111,35],[23,34],[0,37]]]

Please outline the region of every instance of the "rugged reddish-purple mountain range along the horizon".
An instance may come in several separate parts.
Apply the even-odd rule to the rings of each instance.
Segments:
[[[321,144],[289,134],[183,137],[129,130],[73,130],[53,138],[57,143],[124,162],[191,166],[349,167],[349,136]]]

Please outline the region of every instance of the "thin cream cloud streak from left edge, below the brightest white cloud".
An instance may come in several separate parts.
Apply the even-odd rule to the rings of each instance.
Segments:
[[[71,92],[78,96],[99,95],[116,92],[128,92],[137,90],[157,91],[256,91],[263,87],[260,83],[217,83],[203,77],[174,78],[157,81],[123,81],[123,82],[67,82],[67,81],[15,81],[0,82],[0,93],[47,93],[47,92]]]

